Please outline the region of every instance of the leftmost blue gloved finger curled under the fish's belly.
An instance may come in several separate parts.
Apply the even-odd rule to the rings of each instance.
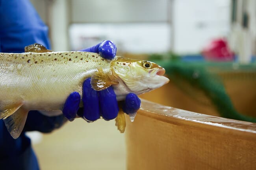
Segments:
[[[76,91],[72,92],[67,98],[63,106],[63,115],[73,121],[76,118],[76,112],[79,109],[80,94]]]

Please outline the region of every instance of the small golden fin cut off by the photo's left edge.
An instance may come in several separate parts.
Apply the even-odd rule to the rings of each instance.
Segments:
[[[22,102],[12,103],[0,107],[0,119],[6,119],[22,106]]]

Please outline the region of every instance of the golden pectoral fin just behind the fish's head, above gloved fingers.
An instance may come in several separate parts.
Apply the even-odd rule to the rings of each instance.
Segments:
[[[91,86],[97,91],[104,90],[113,84],[118,84],[115,77],[110,73],[104,73],[102,68],[98,68],[98,71],[91,77]]]

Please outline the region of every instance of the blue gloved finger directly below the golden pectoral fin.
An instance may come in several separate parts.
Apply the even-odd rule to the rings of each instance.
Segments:
[[[110,86],[105,90],[98,91],[100,98],[101,115],[105,120],[115,119],[119,112],[117,98],[113,88]]]

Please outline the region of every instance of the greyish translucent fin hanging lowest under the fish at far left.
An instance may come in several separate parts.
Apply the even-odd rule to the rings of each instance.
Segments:
[[[26,119],[28,116],[28,110],[20,107],[15,113],[4,119],[8,132],[14,139],[17,139],[22,132]]]

